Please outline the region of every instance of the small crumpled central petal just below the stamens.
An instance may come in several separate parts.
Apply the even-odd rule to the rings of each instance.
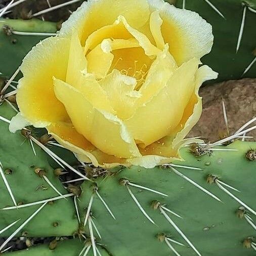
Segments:
[[[139,92],[134,91],[136,82],[134,77],[123,75],[116,69],[100,81],[120,119],[131,117],[135,111],[135,103],[140,97]]]

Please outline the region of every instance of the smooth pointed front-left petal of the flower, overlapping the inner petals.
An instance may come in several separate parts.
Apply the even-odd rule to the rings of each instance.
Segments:
[[[59,79],[54,80],[56,97],[65,105],[76,131],[101,151],[117,157],[140,155],[123,122],[98,110],[80,93]]]

